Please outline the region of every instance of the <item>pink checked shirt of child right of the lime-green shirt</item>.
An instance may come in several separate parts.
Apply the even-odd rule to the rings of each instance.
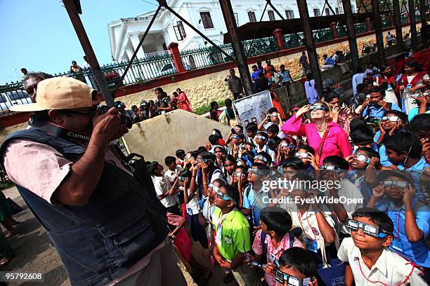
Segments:
[[[277,248],[273,245],[271,236],[266,236],[264,239],[264,243],[267,244],[267,261],[271,261],[271,254],[279,259],[282,255],[282,252],[289,249],[289,234],[285,233],[285,236],[282,238],[280,244]],[[294,238],[293,247],[301,247],[304,248],[303,244],[297,238]],[[257,231],[255,234],[254,244],[252,245],[252,250],[254,250],[255,254],[261,255],[263,254],[263,245],[261,245],[261,230]],[[264,273],[264,278],[266,282],[270,286],[276,285],[275,276],[269,275],[268,273]]]

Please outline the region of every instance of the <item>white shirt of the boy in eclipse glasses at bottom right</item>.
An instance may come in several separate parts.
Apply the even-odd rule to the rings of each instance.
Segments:
[[[410,278],[405,282],[409,281],[410,285],[414,286],[427,285],[419,276],[418,268],[412,270],[413,266],[410,261],[400,257],[387,247],[384,247],[381,256],[370,269],[365,265],[360,249],[356,247],[352,238],[344,238],[337,252],[337,257],[341,261],[348,262],[351,266],[356,286],[383,285],[380,282],[385,285],[399,285],[410,275],[411,271]],[[368,280],[380,282],[372,283]]]

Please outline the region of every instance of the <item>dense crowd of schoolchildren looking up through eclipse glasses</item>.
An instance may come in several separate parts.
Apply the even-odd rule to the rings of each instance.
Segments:
[[[148,163],[190,267],[209,279],[194,240],[239,285],[429,283],[429,76],[415,61],[400,81],[369,68],[348,104],[325,89],[287,116],[211,130],[165,172]]]

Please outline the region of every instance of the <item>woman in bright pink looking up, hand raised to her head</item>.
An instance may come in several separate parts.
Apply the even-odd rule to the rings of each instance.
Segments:
[[[301,116],[309,110],[313,123],[302,123]],[[281,130],[287,135],[306,136],[309,146],[315,150],[315,161],[318,166],[323,165],[323,160],[327,156],[346,158],[353,150],[345,131],[331,121],[330,109],[325,102],[315,102],[313,105],[301,107],[282,125]]]

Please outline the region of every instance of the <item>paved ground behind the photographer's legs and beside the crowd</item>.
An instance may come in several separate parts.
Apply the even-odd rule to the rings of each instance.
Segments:
[[[8,239],[8,242],[15,249],[15,257],[12,261],[1,269],[1,271],[13,271],[21,273],[44,273],[44,282],[8,282],[8,285],[55,285],[55,286],[68,286],[70,281],[67,273],[60,261],[60,257],[56,250],[51,245],[46,232],[42,226],[34,218],[32,212],[25,205],[20,194],[15,188],[7,189],[4,191],[6,197],[12,198],[15,203],[21,205],[24,211],[16,214],[14,218],[21,222],[16,226],[20,232],[18,236]],[[4,230],[4,229],[3,229]],[[202,247],[199,243],[194,243],[193,254],[200,264],[209,267],[209,259],[202,257]],[[185,268],[183,268],[185,271]],[[208,286],[225,285],[222,278],[224,275],[223,269],[216,267],[212,270],[213,276],[209,280]],[[193,280],[185,273],[185,278],[188,285],[195,285]],[[231,282],[228,285],[237,285]]]

